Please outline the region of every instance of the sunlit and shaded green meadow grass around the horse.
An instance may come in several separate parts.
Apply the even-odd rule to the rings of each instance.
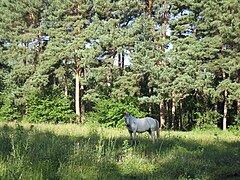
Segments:
[[[240,179],[240,133],[0,123],[0,179]]]

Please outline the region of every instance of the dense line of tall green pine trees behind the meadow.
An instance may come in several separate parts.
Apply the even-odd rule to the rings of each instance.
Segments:
[[[0,120],[240,126],[237,0],[2,0]]]

